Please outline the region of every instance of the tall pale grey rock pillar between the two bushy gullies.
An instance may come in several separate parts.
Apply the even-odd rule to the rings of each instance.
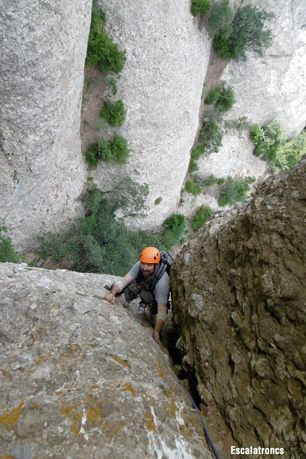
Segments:
[[[99,1],[114,41],[126,50],[118,94],[127,109],[119,132],[132,155],[121,172],[101,166],[99,188],[109,189],[120,173],[147,184],[147,217],[127,220],[151,228],[175,212],[198,127],[198,112],[210,42],[190,13],[189,0]],[[162,203],[154,202],[162,197]]]

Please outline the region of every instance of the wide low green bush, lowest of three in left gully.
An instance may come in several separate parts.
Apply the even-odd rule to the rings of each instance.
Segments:
[[[126,139],[116,133],[111,140],[99,140],[90,145],[85,157],[91,167],[97,167],[99,160],[106,162],[116,160],[120,165],[123,165],[129,158],[130,151]]]

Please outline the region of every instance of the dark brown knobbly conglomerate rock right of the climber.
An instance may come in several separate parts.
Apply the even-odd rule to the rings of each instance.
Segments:
[[[306,451],[306,158],[209,222],[172,267],[183,365],[240,445]]]

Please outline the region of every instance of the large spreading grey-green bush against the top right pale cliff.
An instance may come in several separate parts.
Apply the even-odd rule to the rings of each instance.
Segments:
[[[214,36],[214,48],[221,59],[246,60],[246,48],[252,49],[259,56],[272,44],[272,32],[265,29],[265,22],[273,17],[254,5],[239,7],[231,19],[228,2],[223,1],[222,15],[211,12],[209,33]]]

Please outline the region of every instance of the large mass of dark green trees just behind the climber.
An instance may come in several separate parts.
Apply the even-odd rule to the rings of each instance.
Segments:
[[[138,194],[141,195],[139,189]],[[152,245],[170,250],[186,229],[185,217],[176,214],[165,220],[164,232],[160,235],[127,230],[114,216],[120,199],[111,202],[99,190],[89,191],[85,203],[87,216],[75,220],[65,235],[45,233],[39,238],[40,259],[51,257],[81,272],[123,276],[139,260],[144,247]]]

